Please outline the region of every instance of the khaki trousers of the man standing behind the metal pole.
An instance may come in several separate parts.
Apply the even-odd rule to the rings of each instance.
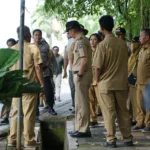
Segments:
[[[22,111],[23,111],[23,134],[24,144],[35,144],[35,120],[36,120],[36,105],[38,94],[24,94],[22,96]],[[17,140],[17,113],[18,104],[17,99],[12,101],[12,118],[10,125],[10,135],[8,136],[8,143],[16,144]]]

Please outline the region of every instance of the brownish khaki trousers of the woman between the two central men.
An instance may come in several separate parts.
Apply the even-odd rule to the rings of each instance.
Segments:
[[[97,110],[100,113],[100,105],[98,104],[99,94],[98,94],[98,87],[90,86],[89,88],[89,99],[90,99],[90,122],[97,121]],[[97,108],[96,108],[97,107]]]

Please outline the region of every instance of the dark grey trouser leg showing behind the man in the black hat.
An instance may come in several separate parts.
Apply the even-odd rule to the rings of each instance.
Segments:
[[[75,85],[74,85],[74,81],[73,81],[72,72],[70,70],[69,70],[69,86],[70,86],[70,90],[71,90],[72,107],[75,107],[75,102],[74,102],[74,98],[75,98]]]

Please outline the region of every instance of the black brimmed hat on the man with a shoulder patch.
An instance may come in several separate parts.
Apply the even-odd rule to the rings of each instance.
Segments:
[[[81,28],[80,24],[78,21],[73,20],[73,21],[69,21],[66,23],[66,30],[64,31],[64,33],[68,32],[70,29],[74,29],[74,28]]]

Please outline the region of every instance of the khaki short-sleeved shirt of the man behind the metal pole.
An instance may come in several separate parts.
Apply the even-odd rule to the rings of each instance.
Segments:
[[[16,44],[11,48],[19,50],[19,44]],[[39,64],[42,64],[42,59],[38,47],[24,41],[23,69],[29,71],[24,77],[30,79],[30,81],[38,81],[35,66]],[[17,70],[18,66],[19,61],[11,69]]]

